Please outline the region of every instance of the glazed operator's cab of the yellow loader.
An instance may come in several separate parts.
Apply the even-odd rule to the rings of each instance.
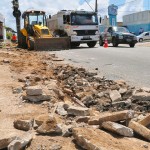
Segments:
[[[24,28],[30,36],[34,35],[34,25],[46,26],[46,15],[44,11],[25,11],[22,18],[24,19]]]

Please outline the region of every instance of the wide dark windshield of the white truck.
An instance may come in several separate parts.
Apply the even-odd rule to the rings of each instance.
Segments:
[[[96,14],[72,14],[72,25],[98,25]]]

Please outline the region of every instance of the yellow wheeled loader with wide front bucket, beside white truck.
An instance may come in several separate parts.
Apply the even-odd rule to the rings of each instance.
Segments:
[[[67,37],[53,37],[46,25],[44,11],[29,10],[22,14],[24,28],[20,30],[19,45],[29,50],[60,50],[69,49]]]

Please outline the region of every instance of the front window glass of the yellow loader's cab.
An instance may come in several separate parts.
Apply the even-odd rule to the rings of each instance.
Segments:
[[[45,25],[45,15],[44,14],[38,14],[38,13],[32,13],[29,15],[29,24],[30,25]]]

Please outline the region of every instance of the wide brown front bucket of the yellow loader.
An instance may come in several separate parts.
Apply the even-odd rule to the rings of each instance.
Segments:
[[[70,48],[68,37],[39,38],[35,40],[34,50],[64,50]]]

